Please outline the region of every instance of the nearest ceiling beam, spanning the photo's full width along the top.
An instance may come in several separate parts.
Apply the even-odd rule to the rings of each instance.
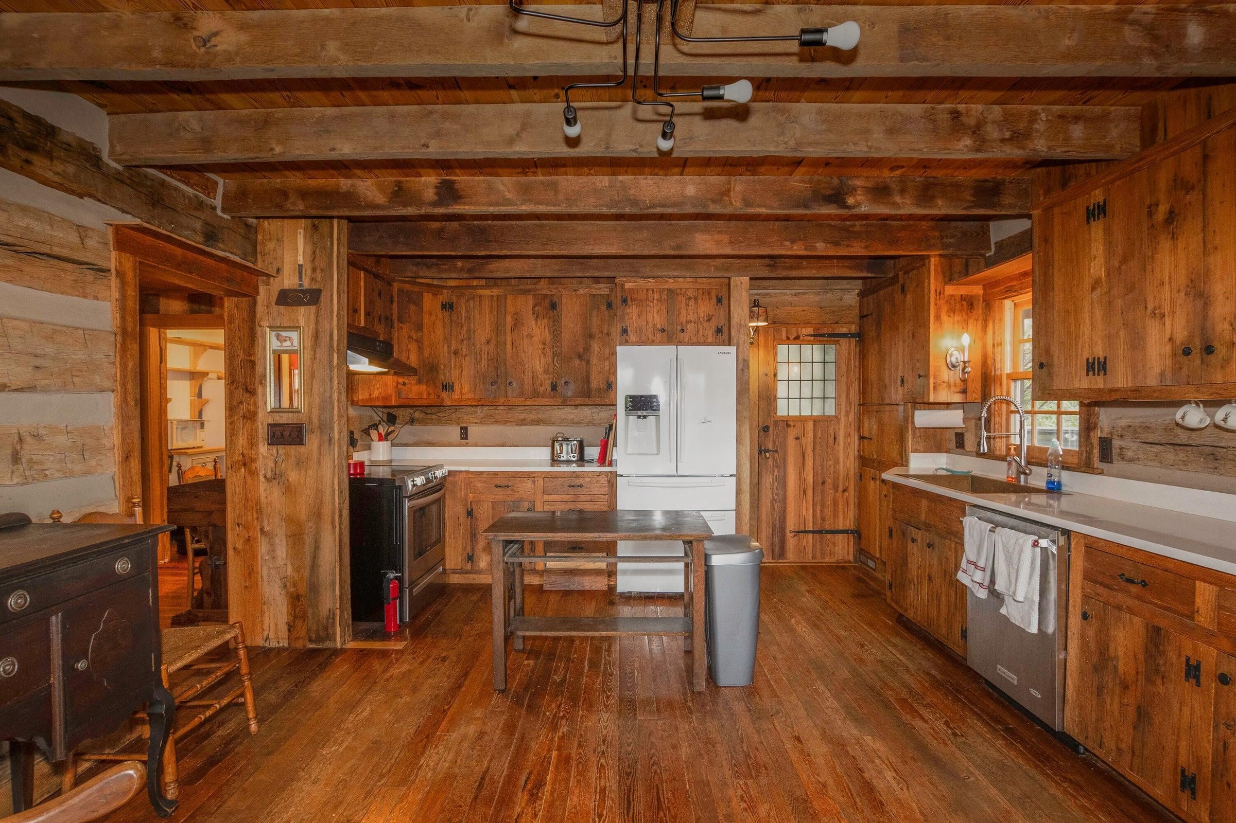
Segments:
[[[606,7],[613,12],[618,5],[607,0]],[[570,14],[598,19],[602,7],[572,7]],[[708,4],[695,10],[693,27],[682,22],[684,31],[697,36],[726,37],[796,33],[844,20],[861,26],[857,51],[808,51],[796,42],[738,48],[674,43],[662,49],[661,73],[1230,77],[1236,70],[1232,5]],[[620,54],[616,32],[515,17],[504,4],[6,14],[0,16],[0,80],[597,75],[614,73]]]

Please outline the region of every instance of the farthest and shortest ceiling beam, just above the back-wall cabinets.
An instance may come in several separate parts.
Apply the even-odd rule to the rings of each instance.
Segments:
[[[780,281],[889,277],[891,257],[389,257],[384,273],[400,279],[571,277],[751,277]]]

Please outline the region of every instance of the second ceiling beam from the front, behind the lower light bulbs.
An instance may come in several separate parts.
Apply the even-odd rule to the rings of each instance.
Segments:
[[[167,111],[109,117],[122,166],[349,159],[656,157],[660,109],[557,104]],[[679,104],[675,157],[1116,159],[1141,147],[1136,106]]]

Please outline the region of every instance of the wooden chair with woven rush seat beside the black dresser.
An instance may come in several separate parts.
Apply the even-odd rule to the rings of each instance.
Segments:
[[[231,645],[235,657],[205,660],[210,652]],[[225,707],[241,704],[248,718],[248,733],[257,734],[257,709],[253,703],[253,683],[248,672],[248,652],[245,648],[245,631],[240,623],[203,623],[201,625],[172,627],[162,631],[163,667],[161,671],[163,686],[172,692],[176,703],[176,728],[167,740],[163,753],[163,793],[174,800],[179,795],[176,766],[176,741],[193,732]],[[192,672],[172,687],[172,675],[178,671]],[[216,686],[231,672],[240,673],[240,682],[219,697],[201,698],[199,694]],[[200,675],[200,677],[198,677]],[[200,709],[188,715],[184,709]],[[135,719],[147,724],[146,714],[138,712]],[[145,736],[145,734],[143,734]],[[91,760],[145,760],[145,754],[119,754],[114,751],[74,751],[64,761],[61,775],[63,791],[69,791],[77,782],[77,761]]]

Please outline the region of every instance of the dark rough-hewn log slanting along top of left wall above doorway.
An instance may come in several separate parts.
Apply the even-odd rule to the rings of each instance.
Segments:
[[[0,100],[0,168],[240,260],[255,257],[252,222],[219,214],[214,201],[159,174],[120,168],[90,141],[7,100]]]

